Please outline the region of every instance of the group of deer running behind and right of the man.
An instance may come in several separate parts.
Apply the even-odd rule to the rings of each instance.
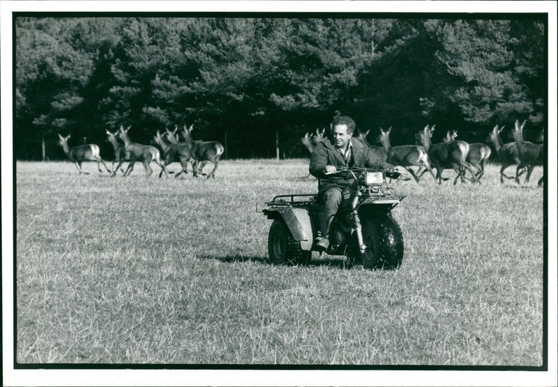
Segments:
[[[515,182],[520,184],[519,177],[527,171],[527,177],[525,177],[525,182],[529,182],[529,177],[533,172],[535,166],[543,165],[543,144],[541,143],[531,143],[523,139],[523,127],[525,126],[525,121],[520,125],[520,123],[515,121],[515,128],[513,129],[514,142],[503,144],[500,141],[499,134],[502,132],[504,127],[499,128],[498,125],[492,129],[488,134],[490,141],[494,144],[502,168],[500,168],[500,182],[504,182],[504,177],[506,179],[514,179]],[[382,146],[370,145],[368,143],[366,136],[370,132],[360,132],[356,134],[356,137],[363,141],[370,147],[370,150],[389,164],[395,166],[402,166],[414,177],[416,182],[420,177],[426,173],[430,172],[430,175],[439,183],[442,180],[448,180],[442,178],[442,171],[444,168],[452,168],[457,172],[453,184],[456,184],[459,179],[465,181],[465,179],[472,182],[478,182],[484,175],[484,164],[485,161],[490,157],[492,152],[488,145],[483,143],[466,143],[465,141],[455,140],[457,136],[457,131],[453,130],[447,132],[446,138],[442,143],[432,144],[432,133],[434,132],[435,125],[426,125],[425,128],[418,132],[415,136],[417,143],[420,145],[400,145],[391,147],[389,143],[389,133],[391,128],[384,130],[380,128],[379,142]],[[316,130],[314,134],[306,134],[302,143],[308,148],[310,153],[313,152],[317,143],[324,138],[325,129],[321,131]],[[539,137],[539,140],[543,140],[543,137]],[[508,176],[504,173],[504,170],[508,166],[517,165],[515,170],[515,177]],[[418,169],[413,171],[412,166],[418,166]],[[437,173],[434,175],[432,169],[435,168]],[[469,171],[471,175],[470,178],[465,176],[465,172]],[[544,173],[544,172],[543,172]],[[538,186],[543,184],[543,177],[538,180]]]

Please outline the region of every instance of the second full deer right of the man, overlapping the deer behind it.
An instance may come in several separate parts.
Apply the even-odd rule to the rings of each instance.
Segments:
[[[451,141],[432,145],[431,138],[435,126],[436,125],[432,125],[432,127],[429,127],[426,125],[421,132],[416,134],[416,139],[423,145],[426,152],[428,152],[432,168],[436,168],[436,179],[438,180],[438,184],[442,184],[442,171],[444,171],[444,168],[453,168],[455,172],[458,173],[455,180],[453,180],[453,184],[457,184],[461,175],[465,175],[465,170],[471,173],[472,182],[475,183],[477,180],[473,167],[466,161],[467,153],[469,152],[469,144],[465,141]]]

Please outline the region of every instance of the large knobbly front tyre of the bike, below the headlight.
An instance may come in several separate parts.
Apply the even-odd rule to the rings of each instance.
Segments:
[[[362,225],[366,246],[361,254],[366,269],[398,269],[403,261],[403,235],[391,215],[380,219],[366,219]]]

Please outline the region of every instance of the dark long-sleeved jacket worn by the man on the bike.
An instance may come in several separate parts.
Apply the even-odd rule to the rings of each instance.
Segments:
[[[350,140],[352,142],[352,155],[349,161],[341,155],[339,150],[335,149],[335,145],[331,143],[329,137],[320,141],[312,157],[310,158],[310,173],[317,177],[318,180],[318,193],[322,194],[327,189],[332,187],[339,187],[345,189],[352,182],[354,177],[350,173],[337,173],[335,175],[325,175],[326,165],[336,166],[338,169],[342,167],[366,167],[372,169],[386,169],[393,168],[393,165],[387,163],[384,159],[375,156],[368,145],[354,137]]]

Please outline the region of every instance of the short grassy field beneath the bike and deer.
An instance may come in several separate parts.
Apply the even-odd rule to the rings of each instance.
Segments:
[[[394,184],[398,271],[269,264],[256,203],[316,191],[308,160],[84,170],[16,165],[20,363],[542,364],[541,168],[521,187],[495,165],[480,185]]]

